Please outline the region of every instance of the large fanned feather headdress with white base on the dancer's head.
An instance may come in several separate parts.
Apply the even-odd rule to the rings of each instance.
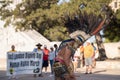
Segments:
[[[70,37],[77,38],[84,43],[91,36],[98,33],[106,25],[109,24],[111,19],[111,12],[108,8],[105,8],[106,16],[103,18],[101,15],[95,15],[94,13],[88,14],[87,12],[80,13],[74,18],[70,18],[68,15],[65,16],[65,26],[67,27]],[[103,9],[105,11],[105,9]]]

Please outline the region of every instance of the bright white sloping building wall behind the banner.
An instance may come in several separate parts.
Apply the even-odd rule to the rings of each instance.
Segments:
[[[12,26],[0,27],[0,58],[6,58],[11,45],[15,45],[17,51],[32,51],[37,43],[49,46],[50,41],[35,30],[16,32]]]

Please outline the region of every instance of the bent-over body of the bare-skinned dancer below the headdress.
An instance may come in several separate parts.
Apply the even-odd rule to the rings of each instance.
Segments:
[[[55,58],[55,63],[53,65],[53,70],[54,70],[54,74],[55,74],[55,80],[75,80],[74,77],[74,66],[72,63],[72,57],[75,53],[75,50],[67,45],[64,44],[62,46],[60,46],[60,50],[58,51],[58,55]],[[66,55],[67,53],[65,53],[65,51],[70,50],[70,53],[68,53],[69,55],[67,57],[69,57],[68,61],[69,61],[69,66],[66,65]],[[72,74],[72,75],[70,75]],[[69,78],[66,78],[66,76],[68,76]]]

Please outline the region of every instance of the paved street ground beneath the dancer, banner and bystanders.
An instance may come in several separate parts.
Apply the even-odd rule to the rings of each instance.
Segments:
[[[84,74],[85,68],[78,68],[75,72],[77,80],[120,80],[119,69],[93,69],[93,74]],[[54,80],[50,77],[50,71],[44,73],[43,77],[34,78],[33,75],[19,75],[17,80]],[[0,80],[8,80],[5,70],[0,70]],[[14,79],[12,79],[14,80]]]

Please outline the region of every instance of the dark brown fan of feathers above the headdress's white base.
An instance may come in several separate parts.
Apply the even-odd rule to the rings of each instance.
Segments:
[[[65,26],[67,27],[69,33],[81,30],[86,34],[91,34],[94,30],[96,30],[102,20],[101,16],[96,16],[93,13],[87,14],[84,12],[74,18],[66,16]]]

